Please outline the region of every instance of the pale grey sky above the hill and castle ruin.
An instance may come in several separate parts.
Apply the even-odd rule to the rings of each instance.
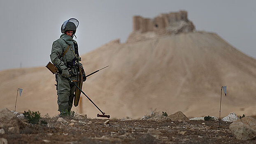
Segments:
[[[0,70],[45,66],[69,18],[80,22],[82,55],[113,39],[126,42],[134,15],[152,19],[179,10],[196,30],[217,33],[256,58],[256,0],[0,0]]]

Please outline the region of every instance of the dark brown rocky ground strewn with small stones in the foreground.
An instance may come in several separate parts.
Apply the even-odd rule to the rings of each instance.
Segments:
[[[229,130],[229,122],[186,121],[177,122],[90,119],[84,116],[45,117],[47,124],[26,124],[19,133],[5,129],[8,144],[255,144],[256,139],[236,139]],[[41,121],[40,120],[40,121]],[[26,122],[24,119],[22,120]]]

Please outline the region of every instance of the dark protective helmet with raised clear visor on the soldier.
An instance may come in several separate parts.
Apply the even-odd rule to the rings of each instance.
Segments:
[[[73,30],[74,31],[73,35],[74,35],[76,33],[78,25],[79,25],[79,21],[74,18],[64,21],[64,23],[61,26],[61,33],[65,33],[68,30]]]

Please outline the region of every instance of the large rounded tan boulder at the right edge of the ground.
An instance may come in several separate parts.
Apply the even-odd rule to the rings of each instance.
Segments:
[[[253,139],[256,137],[256,119],[246,116],[231,123],[229,129],[237,139]]]

